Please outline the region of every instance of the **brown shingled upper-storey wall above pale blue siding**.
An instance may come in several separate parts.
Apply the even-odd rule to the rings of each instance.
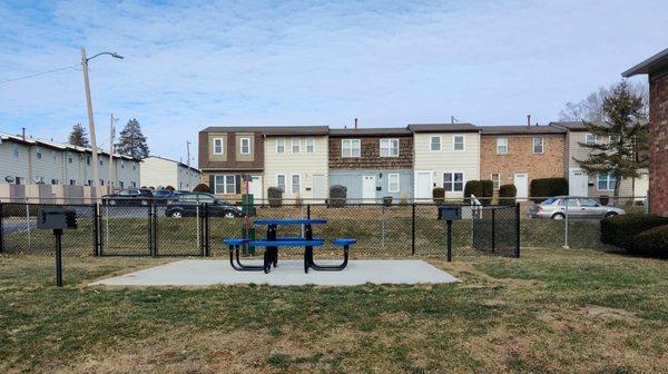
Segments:
[[[381,139],[399,138],[399,157],[381,157]],[[341,157],[342,139],[360,139],[361,157]],[[330,137],[331,169],[411,169],[413,167],[412,137],[362,137],[332,138]]]

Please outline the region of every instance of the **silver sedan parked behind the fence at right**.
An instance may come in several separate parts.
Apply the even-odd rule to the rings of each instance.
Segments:
[[[551,197],[541,204],[534,205],[529,208],[529,217],[531,218],[551,218],[551,219],[564,219],[567,214],[567,201],[568,201],[568,218],[596,218],[602,219],[617,215],[622,215],[626,211],[615,206],[606,206],[597,203],[591,198],[571,197],[566,196]]]

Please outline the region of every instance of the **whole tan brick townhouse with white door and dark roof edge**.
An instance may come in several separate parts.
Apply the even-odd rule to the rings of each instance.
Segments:
[[[514,185],[529,197],[531,180],[564,176],[566,130],[551,126],[480,126],[480,178]]]

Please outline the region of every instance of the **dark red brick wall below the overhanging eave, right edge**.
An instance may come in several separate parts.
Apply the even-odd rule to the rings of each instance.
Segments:
[[[650,209],[668,216],[668,75],[650,78],[649,124]]]

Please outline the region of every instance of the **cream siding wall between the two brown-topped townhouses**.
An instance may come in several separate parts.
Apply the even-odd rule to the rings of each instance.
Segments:
[[[299,154],[292,152],[293,137],[285,137],[285,152],[276,154],[276,139],[279,137],[268,137],[264,141],[264,193],[267,188],[276,186],[276,175],[284,174],[286,180],[286,190],[283,193],[285,198],[313,198],[313,175],[325,176],[327,178],[328,167],[328,142],[326,136],[313,137],[315,151],[307,154],[305,145]],[[304,139],[306,137],[303,137]],[[293,194],[291,188],[291,176],[298,174],[302,179],[302,188],[298,194]],[[325,191],[328,186],[325,186]]]

